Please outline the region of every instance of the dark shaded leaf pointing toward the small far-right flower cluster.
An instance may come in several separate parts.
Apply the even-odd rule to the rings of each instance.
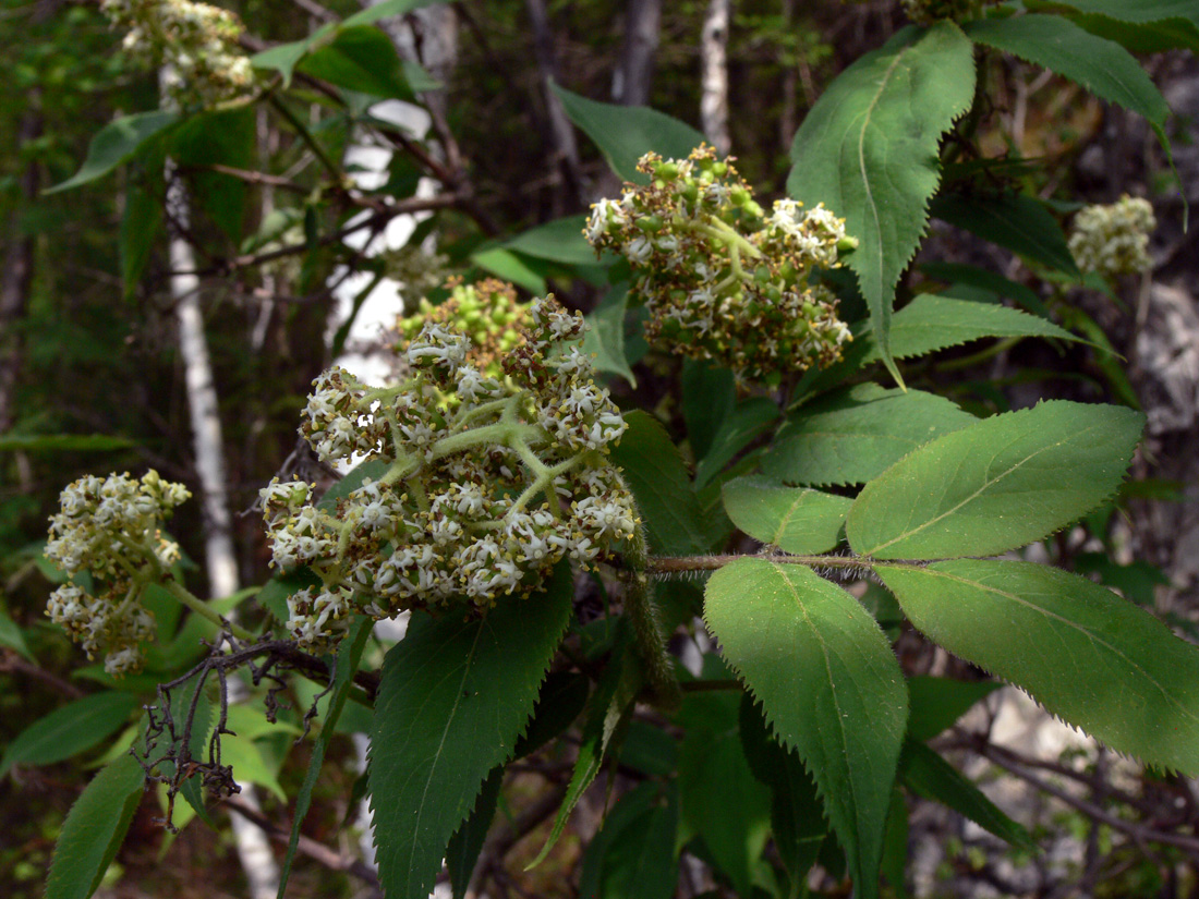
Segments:
[[[1066,235],[1044,204],[1024,194],[962,197],[941,194],[930,212],[942,222],[1006,247],[1072,278],[1081,278]]]

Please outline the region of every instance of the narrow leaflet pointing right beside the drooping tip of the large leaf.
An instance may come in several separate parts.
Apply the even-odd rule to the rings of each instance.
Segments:
[[[891,320],[891,354],[896,358],[923,356],[983,337],[1078,340],[1070,331],[1036,315],[938,294],[921,294]],[[873,337],[866,336],[864,340],[869,343],[867,361],[879,358]]]

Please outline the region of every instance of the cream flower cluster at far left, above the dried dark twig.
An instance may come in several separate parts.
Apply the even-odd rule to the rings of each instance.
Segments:
[[[162,519],[191,494],[149,471],[88,476],[67,485],[50,519],[46,556],[71,578],[90,572],[94,595],[74,583],[50,595],[47,614],[83,646],[104,653],[104,670],[120,675],[141,666],[141,644],[153,639],[153,616],[139,604],[146,584],[179,559]]]

